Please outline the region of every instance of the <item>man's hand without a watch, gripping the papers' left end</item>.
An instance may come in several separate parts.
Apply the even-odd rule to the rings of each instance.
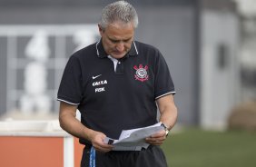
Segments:
[[[113,145],[104,143],[103,140],[106,137],[105,134],[95,132],[91,133],[90,138],[94,146],[94,149],[98,152],[110,152],[113,149]]]

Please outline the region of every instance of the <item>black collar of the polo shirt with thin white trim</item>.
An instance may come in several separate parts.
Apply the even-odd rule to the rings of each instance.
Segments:
[[[98,43],[96,43],[96,51],[97,51],[98,57],[100,57],[100,58],[105,58],[108,56],[108,54],[106,54],[106,52],[104,51],[102,39]],[[138,54],[139,53],[138,53],[136,44],[133,41],[131,50],[124,57],[136,56]]]

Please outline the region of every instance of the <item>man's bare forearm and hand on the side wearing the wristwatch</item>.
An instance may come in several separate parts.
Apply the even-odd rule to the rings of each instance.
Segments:
[[[174,103],[172,94],[165,95],[156,100],[160,112],[159,121],[162,122],[168,130],[171,130],[177,120],[178,111]],[[155,133],[146,138],[146,142],[153,145],[161,145],[166,139],[165,131]]]

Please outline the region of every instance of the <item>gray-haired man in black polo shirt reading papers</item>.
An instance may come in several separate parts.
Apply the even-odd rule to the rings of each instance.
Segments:
[[[105,6],[98,25],[101,40],[74,53],[64,69],[59,121],[86,145],[83,167],[167,166],[159,146],[177,119],[174,86],[162,54],[133,40],[137,25],[129,3]],[[157,106],[165,130],[145,138],[147,149],[112,151],[113,145],[103,142],[105,137],[118,139],[122,130],[157,123]]]

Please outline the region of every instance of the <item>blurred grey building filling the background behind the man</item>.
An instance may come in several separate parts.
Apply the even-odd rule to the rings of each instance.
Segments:
[[[0,0],[1,120],[57,119],[64,65],[99,40],[110,2]],[[158,47],[169,65],[178,123],[225,128],[231,108],[256,94],[255,13],[241,13],[239,0],[128,2],[139,15],[135,40]]]

